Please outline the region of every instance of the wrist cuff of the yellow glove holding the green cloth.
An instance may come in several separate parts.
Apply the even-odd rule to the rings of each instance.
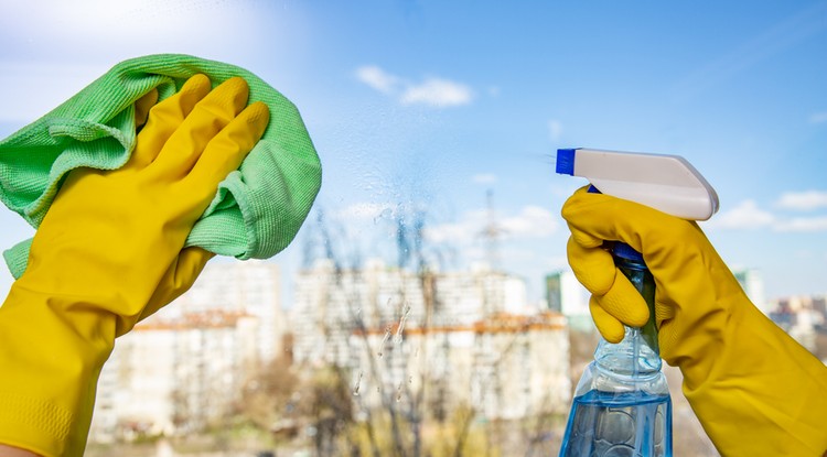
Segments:
[[[56,311],[72,308],[79,318]],[[1,443],[46,457],[83,455],[115,337],[74,320],[89,320],[83,303],[12,285],[0,307],[0,367],[14,367],[0,376]]]

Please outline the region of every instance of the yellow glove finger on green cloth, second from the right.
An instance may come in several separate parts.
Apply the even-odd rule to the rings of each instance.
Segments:
[[[152,164],[154,173],[171,178],[186,176],[206,145],[241,112],[248,96],[247,81],[239,77],[213,89],[167,141]]]

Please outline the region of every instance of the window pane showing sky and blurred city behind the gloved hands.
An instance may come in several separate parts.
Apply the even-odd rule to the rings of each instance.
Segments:
[[[721,200],[701,227],[751,300],[827,357],[826,15],[823,1],[6,6],[0,138],[118,62],[182,53],[282,93],[323,164],[290,247],[213,260],[119,340],[88,454],[554,455],[598,338],[559,216],[587,182],[555,173],[561,148],[686,157]],[[3,249],[34,235],[10,210],[0,227]],[[0,272],[3,294],[12,281]],[[713,455],[667,374],[676,455]]]

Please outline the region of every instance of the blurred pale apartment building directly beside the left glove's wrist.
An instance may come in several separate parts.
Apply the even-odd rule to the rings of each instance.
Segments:
[[[193,287],[118,338],[90,439],[180,434],[221,420],[247,377],[283,349],[279,268],[211,262]]]

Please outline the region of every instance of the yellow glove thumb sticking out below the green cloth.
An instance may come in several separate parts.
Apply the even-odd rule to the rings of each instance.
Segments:
[[[195,283],[207,261],[215,257],[214,253],[198,247],[182,249],[175,261],[167,269],[163,278],[147,302],[138,320],[151,316],[162,307],[178,298]],[[126,329],[128,331],[129,329]]]

